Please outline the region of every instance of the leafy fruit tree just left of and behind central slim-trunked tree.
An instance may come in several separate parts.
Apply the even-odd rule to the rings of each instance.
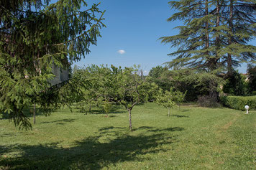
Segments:
[[[116,103],[116,75],[121,72],[120,68],[104,65],[91,65],[82,67],[74,72],[74,75],[81,77],[80,89],[82,95],[78,98],[78,106],[83,112],[91,112],[93,105],[99,106],[106,114],[109,113],[112,103]],[[89,82],[89,83],[87,83]]]

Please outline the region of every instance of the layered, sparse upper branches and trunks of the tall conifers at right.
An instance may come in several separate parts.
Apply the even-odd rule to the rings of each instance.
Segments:
[[[168,21],[183,21],[179,34],[162,37],[163,43],[177,47],[169,67],[191,67],[211,72],[225,67],[232,73],[241,62],[256,59],[256,5],[254,0],[180,0],[169,2],[178,10]]]

